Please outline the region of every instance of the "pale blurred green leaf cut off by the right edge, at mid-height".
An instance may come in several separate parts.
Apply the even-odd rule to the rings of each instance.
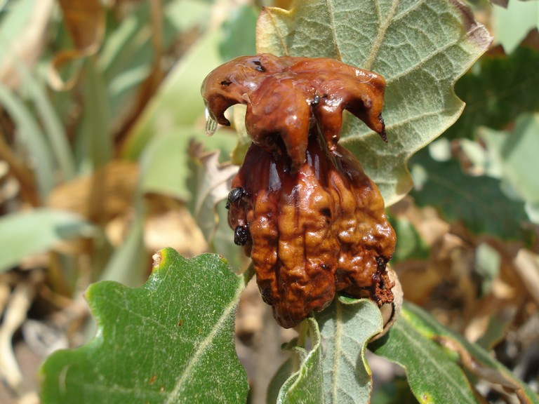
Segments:
[[[526,206],[539,206],[538,133],[539,114],[520,116],[510,132],[487,128],[480,132],[488,152],[500,163],[505,189],[511,189]]]

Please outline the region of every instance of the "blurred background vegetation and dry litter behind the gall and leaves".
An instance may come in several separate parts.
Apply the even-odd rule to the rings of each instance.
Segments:
[[[468,2],[495,42],[457,83],[463,116],[410,162],[415,189],[388,210],[392,262],[406,299],[537,391],[539,6],[496,3]],[[245,267],[218,220],[245,140],[205,135],[199,90],[255,53],[262,6],[291,1],[0,1],[1,403],[38,402],[39,363],[91,337],[89,283],[140,285],[166,246]],[[290,331],[253,284],[237,335],[260,402]],[[401,375],[377,379],[378,365],[374,400],[387,403]]]

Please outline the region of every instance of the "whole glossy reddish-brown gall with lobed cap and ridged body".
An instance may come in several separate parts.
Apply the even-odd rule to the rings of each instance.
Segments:
[[[392,302],[386,263],[395,234],[380,191],[337,142],[347,109],[382,135],[385,81],[335,60],[238,58],[215,69],[202,92],[229,124],[247,105],[253,144],[227,207],[234,241],[253,259],[262,298],[285,328],[343,291]]]

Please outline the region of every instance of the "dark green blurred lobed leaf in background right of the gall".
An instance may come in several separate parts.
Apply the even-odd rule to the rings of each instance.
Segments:
[[[418,206],[434,206],[446,220],[460,220],[474,234],[492,234],[503,239],[524,236],[524,204],[511,201],[500,189],[500,181],[484,175],[466,175],[458,161],[434,161],[428,149],[411,161],[416,189],[411,192]]]

